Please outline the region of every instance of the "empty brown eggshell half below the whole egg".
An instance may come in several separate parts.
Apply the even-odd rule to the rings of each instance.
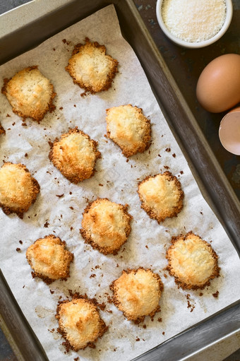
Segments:
[[[219,136],[222,146],[230,153],[240,155],[240,107],[222,118]]]

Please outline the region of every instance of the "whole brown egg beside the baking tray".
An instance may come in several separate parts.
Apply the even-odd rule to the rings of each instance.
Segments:
[[[240,55],[225,54],[212,60],[200,74],[196,95],[200,105],[212,113],[240,102]]]

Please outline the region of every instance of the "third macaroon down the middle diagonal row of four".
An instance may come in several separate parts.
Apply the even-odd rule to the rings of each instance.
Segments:
[[[116,254],[131,231],[128,205],[96,199],[85,208],[81,235],[103,254]]]

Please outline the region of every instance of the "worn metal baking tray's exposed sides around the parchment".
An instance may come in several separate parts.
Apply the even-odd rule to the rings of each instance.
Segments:
[[[132,0],[35,0],[1,16],[0,64],[114,4],[121,32],[136,52],[152,91],[206,201],[240,254],[240,204]],[[24,14],[24,21],[21,20]],[[11,22],[9,23],[9,20]],[[16,20],[16,21],[15,21]],[[21,360],[48,360],[0,273],[0,312]],[[134,360],[186,360],[240,329],[240,301]]]

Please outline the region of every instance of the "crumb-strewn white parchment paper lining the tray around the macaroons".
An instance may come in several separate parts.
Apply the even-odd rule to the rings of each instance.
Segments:
[[[107,47],[107,53],[119,61],[119,73],[107,92],[80,97],[80,88],[73,84],[64,68],[73,46],[83,42],[86,36]],[[66,42],[62,41],[64,39]],[[6,135],[0,139],[1,162],[9,160],[25,164],[40,183],[41,191],[23,220],[0,211],[0,259],[4,276],[49,360],[73,360],[77,356],[81,361],[131,360],[238,300],[239,258],[200,194],[145,73],[121,36],[114,7],[98,11],[36,49],[1,66],[1,82],[35,64],[54,84],[56,110],[47,114],[41,124],[28,119],[28,126],[22,126],[21,119],[13,114],[6,97],[1,94],[1,123],[6,129]],[[145,153],[135,155],[127,162],[121,150],[104,134],[105,110],[128,103],[141,107],[145,116],[150,118],[152,145]],[[95,176],[77,185],[68,182],[48,159],[48,141],[54,141],[56,136],[74,126],[98,141],[102,153]],[[166,151],[167,148],[171,150]],[[158,225],[140,208],[136,190],[139,180],[149,174],[164,172],[166,166],[181,181],[185,193],[184,208],[177,218],[167,219]],[[57,197],[62,194],[61,198]],[[133,215],[131,235],[116,256],[100,254],[85,244],[79,233],[83,210],[88,201],[97,196],[128,203],[128,211]],[[190,230],[211,242],[219,255],[221,276],[212,280],[210,287],[203,291],[178,289],[174,278],[168,274],[164,276],[164,267],[167,266],[165,253],[172,236]],[[68,249],[74,253],[74,262],[71,277],[66,282],[56,281],[46,285],[40,279],[32,279],[25,251],[37,238],[52,233],[66,241]],[[19,243],[20,240],[23,244]],[[18,247],[20,251],[16,251]],[[107,296],[112,295],[109,284],[119,278],[124,268],[138,266],[150,267],[159,273],[164,292],[160,300],[162,310],[155,315],[155,320],[147,317],[143,324],[137,326],[126,321],[122,313],[107,302]],[[97,341],[95,349],[64,353],[63,340],[56,332],[54,314],[59,297],[66,298],[69,289],[87,293],[89,297],[96,297],[99,302],[107,304],[105,311],[100,313],[109,330]],[[217,290],[218,297],[213,297]]]

